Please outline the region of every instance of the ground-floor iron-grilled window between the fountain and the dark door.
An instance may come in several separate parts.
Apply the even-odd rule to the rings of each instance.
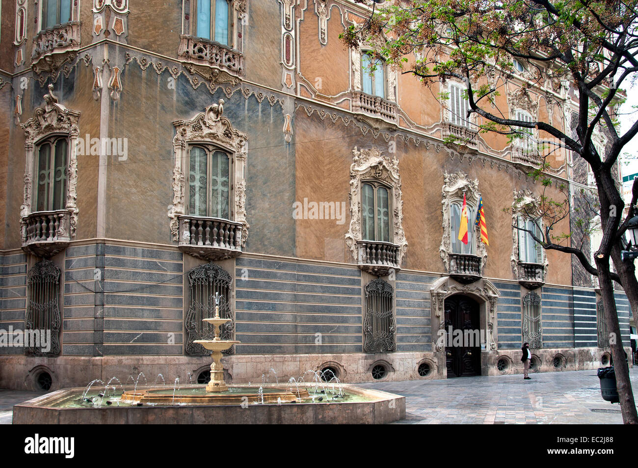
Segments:
[[[377,278],[366,285],[366,314],[364,317],[364,352],[396,351],[394,323],[394,289],[390,283]]]

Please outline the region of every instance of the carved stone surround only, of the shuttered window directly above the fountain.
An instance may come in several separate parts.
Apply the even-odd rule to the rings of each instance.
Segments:
[[[224,101],[207,107],[189,120],[176,120],[175,137],[173,146],[175,151],[175,165],[173,169],[173,204],[168,206],[170,218],[170,230],[173,240],[179,240],[179,216],[186,215],[186,183],[184,180],[184,168],[188,154],[189,142],[210,142],[232,153],[235,159],[234,177],[230,174],[230,180],[234,185],[235,212],[234,222],[242,223],[241,246],[248,239],[249,224],[246,222],[246,180],[244,179],[244,166],[246,165],[248,135],[235,130],[230,120],[223,117]],[[188,169],[184,169],[188,170]]]

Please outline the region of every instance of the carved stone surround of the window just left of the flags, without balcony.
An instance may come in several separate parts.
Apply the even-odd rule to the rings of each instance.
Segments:
[[[363,240],[361,232],[361,182],[366,179],[380,181],[389,186],[392,192],[391,243],[398,248],[396,253],[393,253],[393,260],[396,262],[396,269],[400,269],[403,256],[408,248],[408,242],[405,239],[403,230],[403,194],[401,192],[401,176],[399,176],[399,161],[396,158],[390,160],[388,156],[382,155],[381,151],[376,147],[362,149],[361,151],[355,147],[352,153],[350,194],[348,195],[350,199],[350,228],[346,234],[346,245],[350,248],[355,261],[360,264],[362,255],[358,252],[358,243]]]

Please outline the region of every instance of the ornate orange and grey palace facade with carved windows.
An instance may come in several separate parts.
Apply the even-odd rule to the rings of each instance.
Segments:
[[[527,174],[543,155],[475,134],[461,83],[368,72],[370,50],[338,37],[365,5],[1,8],[0,388],[202,381],[211,358],[195,340],[216,300],[241,342],[223,359],[233,382],[271,368],[346,382],[516,374],[523,341],[541,372],[609,359],[591,276],[514,227],[538,203]],[[500,109],[565,128],[568,85],[520,93],[519,65]],[[547,162],[547,195],[587,185],[570,155]],[[489,246],[472,222],[480,198]],[[450,327],[480,340],[453,346]]]

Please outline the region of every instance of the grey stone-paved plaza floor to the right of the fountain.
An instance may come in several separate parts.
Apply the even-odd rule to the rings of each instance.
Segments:
[[[371,382],[364,388],[406,397],[396,424],[622,424],[618,404],[600,396],[596,370],[447,380]],[[630,369],[638,393],[638,369]]]

